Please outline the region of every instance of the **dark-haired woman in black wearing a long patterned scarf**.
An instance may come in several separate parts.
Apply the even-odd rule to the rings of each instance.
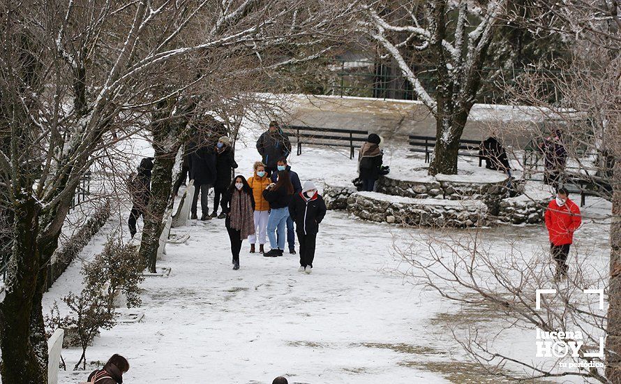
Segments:
[[[225,226],[231,241],[233,269],[239,269],[241,242],[255,234],[255,198],[246,178],[237,175],[234,182],[222,195],[220,202],[226,216]]]

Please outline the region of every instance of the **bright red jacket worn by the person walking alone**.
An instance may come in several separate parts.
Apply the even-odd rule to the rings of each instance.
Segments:
[[[562,207],[559,207],[556,199],[553,199],[548,204],[545,218],[550,242],[553,245],[571,244],[574,239],[574,231],[582,223],[580,208],[569,198]]]

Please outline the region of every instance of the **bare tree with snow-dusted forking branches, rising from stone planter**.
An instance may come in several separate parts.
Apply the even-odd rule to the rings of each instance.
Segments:
[[[419,100],[436,119],[429,174],[457,173],[459,139],[481,89],[481,71],[507,0],[380,1],[364,6],[360,30],[394,59]],[[457,13],[451,18],[451,13]],[[471,24],[479,20],[478,24]],[[426,89],[412,58],[435,66],[435,89]]]

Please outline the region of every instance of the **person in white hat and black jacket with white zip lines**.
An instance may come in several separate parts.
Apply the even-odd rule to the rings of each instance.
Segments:
[[[293,195],[289,203],[289,214],[297,227],[297,239],[300,243],[299,272],[310,274],[315,259],[315,242],[319,224],[326,216],[324,199],[317,194],[313,182],[304,183],[300,193]]]

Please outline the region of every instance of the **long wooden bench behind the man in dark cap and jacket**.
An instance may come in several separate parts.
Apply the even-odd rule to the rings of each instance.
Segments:
[[[302,153],[302,144],[306,144],[347,147],[350,149],[350,158],[354,158],[354,149],[361,147],[368,138],[367,131],[354,129],[287,126],[283,131],[296,138],[298,156]]]

